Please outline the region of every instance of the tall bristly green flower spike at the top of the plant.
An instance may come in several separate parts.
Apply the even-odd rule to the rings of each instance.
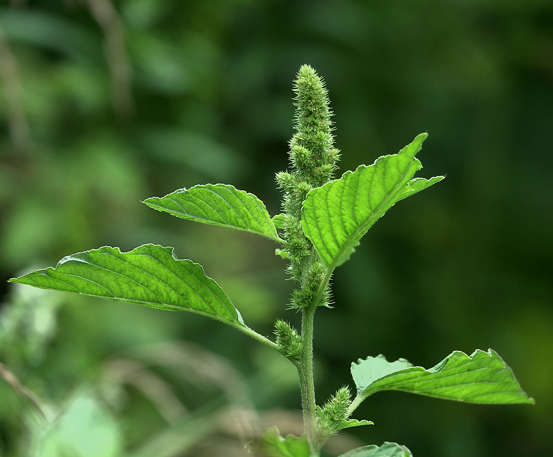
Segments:
[[[340,151],[333,146],[332,112],[325,84],[309,65],[303,65],[294,82],[296,133],[290,141],[291,170],[276,174],[284,191],[284,250],[288,272],[300,284],[291,297],[291,308],[309,306],[325,276],[325,267],[301,227],[302,204],[311,189],[333,178]],[[328,305],[328,288],[317,305]]]

